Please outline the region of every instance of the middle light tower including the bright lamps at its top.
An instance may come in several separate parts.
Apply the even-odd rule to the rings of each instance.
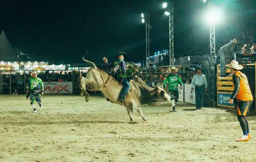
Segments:
[[[169,16],[169,65],[174,64],[174,28],[173,28],[173,2],[164,2],[163,8],[166,10],[164,14]]]

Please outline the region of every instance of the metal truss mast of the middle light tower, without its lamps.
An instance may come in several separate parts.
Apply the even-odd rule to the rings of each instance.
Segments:
[[[170,3],[170,15],[169,15],[169,56],[170,56],[170,65],[174,65],[174,28],[173,28],[173,2]]]

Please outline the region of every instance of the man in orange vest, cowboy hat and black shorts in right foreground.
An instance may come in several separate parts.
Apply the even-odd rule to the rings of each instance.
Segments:
[[[233,74],[234,86],[234,91],[228,100],[228,103],[234,103],[235,108],[237,109],[237,119],[244,134],[240,139],[237,139],[236,141],[246,142],[251,138],[246,116],[249,113],[250,106],[253,101],[252,92],[250,90],[246,75],[239,71],[244,68],[242,65],[238,65],[238,62],[233,60],[231,61],[231,64],[227,64],[226,67],[229,67],[231,73]]]

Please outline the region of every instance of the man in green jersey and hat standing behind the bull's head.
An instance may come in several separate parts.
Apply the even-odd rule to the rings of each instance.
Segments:
[[[164,80],[164,88],[166,86],[166,82],[168,82],[168,90],[171,97],[172,111],[176,112],[175,103],[178,102],[179,98],[178,84],[180,84],[180,88],[182,89],[183,83],[178,74],[175,74],[178,71],[175,66],[172,66],[172,68],[170,68],[169,70],[171,70],[171,73]]]

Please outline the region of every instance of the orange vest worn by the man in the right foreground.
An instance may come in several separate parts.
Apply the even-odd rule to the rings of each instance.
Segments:
[[[235,75],[240,78],[240,88],[238,90],[236,98],[242,101],[253,101],[252,92],[250,90],[250,86],[246,75],[240,71],[237,71]]]

